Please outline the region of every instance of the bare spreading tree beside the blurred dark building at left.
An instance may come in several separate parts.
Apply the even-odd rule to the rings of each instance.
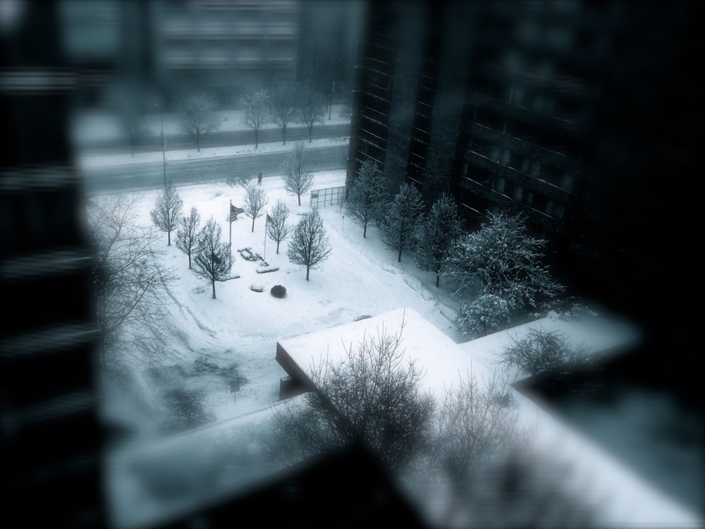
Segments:
[[[88,204],[104,372],[118,369],[128,357],[155,364],[164,354],[166,290],[176,276],[173,269],[159,264],[161,253],[154,250],[157,233],[137,222],[136,204],[141,198],[119,195]]]

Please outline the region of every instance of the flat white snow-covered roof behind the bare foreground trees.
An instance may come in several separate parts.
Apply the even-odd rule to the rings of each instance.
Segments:
[[[402,325],[401,347],[407,358],[415,360],[417,367],[425,371],[424,389],[431,390],[436,396],[466,372],[474,374],[477,379],[491,379],[495,369],[493,354],[512,337],[521,337],[532,327],[565,332],[576,343],[585,343],[594,351],[612,351],[639,338],[630,327],[605,320],[565,322],[545,318],[458,345],[415,310],[399,308],[376,317],[281,340],[277,343],[277,360],[292,377],[301,377],[326,359],[331,363],[341,362],[346,348],[360,343],[365,336],[378,336],[383,329],[396,334]],[[663,496],[620,461],[546,413],[537,403],[516,390],[513,390],[513,397],[520,406],[522,418],[539,427],[539,446],[544,447],[546,455],[558,463],[558,468],[572,468],[570,481],[563,485],[599,505],[599,519],[604,525],[638,528],[701,526],[697,515]],[[435,501],[430,496],[424,500]],[[420,507],[429,513],[436,509],[431,505]]]

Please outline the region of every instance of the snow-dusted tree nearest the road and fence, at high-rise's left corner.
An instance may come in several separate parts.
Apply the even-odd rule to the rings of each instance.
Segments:
[[[353,182],[345,202],[348,214],[362,226],[362,237],[367,237],[367,225],[381,217],[381,207],[388,202],[382,171],[366,160]]]

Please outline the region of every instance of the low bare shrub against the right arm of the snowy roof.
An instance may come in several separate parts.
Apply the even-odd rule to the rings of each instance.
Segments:
[[[536,376],[560,367],[587,364],[590,356],[582,347],[572,346],[568,337],[557,331],[529,329],[523,339],[513,339],[502,357],[528,375]]]

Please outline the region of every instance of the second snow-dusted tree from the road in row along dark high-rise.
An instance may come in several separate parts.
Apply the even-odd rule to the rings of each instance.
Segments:
[[[403,183],[394,197],[381,225],[382,242],[392,250],[397,250],[397,262],[401,253],[410,243],[421,226],[424,213],[424,200],[421,193],[407,183]]]

